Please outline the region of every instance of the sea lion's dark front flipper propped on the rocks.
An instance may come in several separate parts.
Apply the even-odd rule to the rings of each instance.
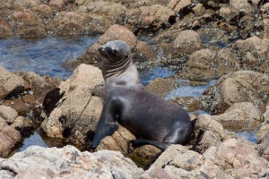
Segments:
[[[115,110],[113,107],[111,107],[111,103],[109,102],[106,103],[103,107],[100,120],[97,124],[97,128],[95,130],[94,138],[91,144],[92,148],[96,148],[103,138],[117,131],[118,122],[115,118],[114,111]]]

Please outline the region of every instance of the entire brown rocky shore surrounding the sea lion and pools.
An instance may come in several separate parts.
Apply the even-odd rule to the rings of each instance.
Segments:
[[[0,178],[268,178],[268,24],[263,0],[1,1],[0,38],[100,37],[63,64],[74,69],[66,81],[0,66]],[[175,70],[146,86],[162,98],[179,80],[216,80],[199,97],[169,99],[191,112],[186,146],[134,149],[135,136],[120,126],[91,149],[106,96],[97,49],[113,39],[126,41],[139,68]],[[65,147],[13,154],[34,130]],[[257,142],[239,138],[244,131]]]

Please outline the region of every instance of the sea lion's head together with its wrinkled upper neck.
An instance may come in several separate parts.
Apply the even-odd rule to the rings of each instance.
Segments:
[[[104,57],[102,74],[104,79],[126,72],[132,64],[132,51],[126,42],[121,40],[108,41],[99,48],[100,55]]]

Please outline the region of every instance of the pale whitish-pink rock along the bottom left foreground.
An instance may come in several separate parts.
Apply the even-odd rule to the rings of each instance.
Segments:
[[[138,178],[143,174],[143,169],[119,152],[81,152],[70,145],[62,149],[31,146],[12,158],[0,158],[0,170],[9,178],[113,179]]]

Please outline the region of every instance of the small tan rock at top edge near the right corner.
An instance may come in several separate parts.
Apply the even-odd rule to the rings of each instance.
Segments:
[[[254,10],[254,6],[249,4],[247,0],[230,0],[229,5],[232,13],[252,13]]]

